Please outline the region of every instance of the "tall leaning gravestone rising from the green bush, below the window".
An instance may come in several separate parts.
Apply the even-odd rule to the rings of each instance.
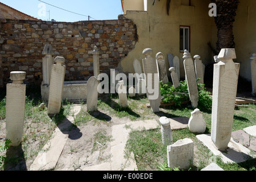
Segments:
[[[184,68],[185,68],[185,74],[186,74],[187,84],[188,84],[189,98],[191,100],[192,107],[196,108],[199,101],[199,94],[198,94],[197,82],[196,82],[196,73],[195,73],[195,67],[194,67],[192,57],[187,50],[184,51],[183,59],[184,59]]]

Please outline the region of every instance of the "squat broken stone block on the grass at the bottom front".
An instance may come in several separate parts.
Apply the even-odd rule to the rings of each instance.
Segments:
[[[168,167],[188,169],[193,164],[194,149],[193,141],[189,138],[178,140],[167,146]]]

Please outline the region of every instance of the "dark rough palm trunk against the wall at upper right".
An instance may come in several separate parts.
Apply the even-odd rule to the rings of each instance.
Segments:
[[[153,5],[155,4],[153,2]],[[160,1],[160,0],[158,0]],[[175,0],[174,0],[175,1]],[[217,27],[217,53],[222,48],[235,48],[233,34],[233,23],[236,17],[239,0],[211,0],[212,3],[217,5],[217,16],[214,18]],[[167,14],[169,15],[171,0],[166,0]]]

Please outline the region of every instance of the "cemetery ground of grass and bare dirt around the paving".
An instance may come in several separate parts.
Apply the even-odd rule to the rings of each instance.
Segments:
[[[238,84],[237,97],[253,98],[250,94],[250,86]],[[208,89],[210,90],[210,89]],[[5,129],[5,90],[1,90],[0,100],[0,143],[6,140]],[[24,134],[22,144],[7,152],[0,151],[1,170],[29,170],[39,151],[42,150],[47,141],[52,137],[57,125],[68,116],[74,116],[72,106],[81,105],[81,111],[73,119],[72,125],[65,129],[68,132],[68,139],[65,143],[60,158],[52,171],[77,170],[109,162],[112,158],[110,154],[110,142],[113,141],[111,127],[128,122],[146,121],[160,117],[177,118],[191,117],[193,111],[191,104],[181,106],[160,107],[159,113],[153,113],[146,106],[148,100],[146,96],[136,96],[128,98],[129,107],[123,109],[118,102],[117,94],[101,94],[98,97],[97,111],[88,113],[86,102],[63,101],[61,111],[55,117],[50,118],[47,114],[47,107],[40,109],[39,105],[44,102],[40,100],[40,89],[29,88],[26,91],[26,109],[24,121]],[[255,100],[255,97],[253,98]],[[47,106],[47,103],[46,103]],[[204,134],[211,131],[211,108],[201,108],[207,129]],[[236,107],[233,121],[233,131],[242,130],[245,127],[256,125],[256,105],[246,104]],[[126,125],[129,128],[129,125]],[[256,159],[250,159],[243,163],[225,164],[218,156],[213,156],[202,143],[197,140],[195,133],[191,133],[187,128],[173,130],[173,143],[177,140],[190,138],[194,142],[194,161],[188,170],[199,171],[207,167],[210,163],[217,163],[225,171],[251,171],[256,169]],[[167,150],[162,144],[160,125],[158,129],[152,130],[131,130],[129,139],[125,147],[125,156],[130,156],[131,152],[136,160],[138,170],[177,170],[167,167]],[[253,151],[252,151],[253,152]]]

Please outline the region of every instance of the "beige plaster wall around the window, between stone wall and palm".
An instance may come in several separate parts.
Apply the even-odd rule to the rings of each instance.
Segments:
[[[214,31],[214,18],[210,18],[209,3],[205,0],[192,0],[192,6],[183,5],[184,0],[171,1],[170,15],[166,13],[166,1],[148,1],[147,12],[127,11],[125,15],[137,25],[139,42],[135,49],[122,60],[123,72],[134,73],[133,60],[141,61],[144,58],[144,48],[152,48],[154,55],[163,52],[166,59],[167,69],[169,66],[167,53],[180,57],[181,77],[184,77],[183,52],[180,52],[180,26],[191,26],[191,55],[200,55],[203,63],[213,61],[212,52],[207,43],[211,42]],[[213,43],[214,44],[214,43]],[[169,72],[168,72],[169,73]],[[170,75],[170,74],[168,74]]]

